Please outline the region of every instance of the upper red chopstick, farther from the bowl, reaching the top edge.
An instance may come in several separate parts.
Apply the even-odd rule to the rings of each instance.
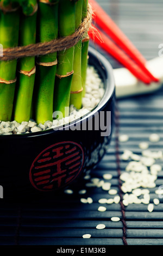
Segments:
[[[151,78],[152,81],[158,82],[159,79],[154,77],[151,72],[146,68],[146,59],[137,50],[137,48],[132,44],[132,42],[127,38],[126,35],[117,27],[114,21],[111,20],[108,14],[100,7],[100,5],[95,0],[89,0],[92,6],[93,19],[97,25],[103,29],[103,31],[116,42],[127,54],[130,56],[140,68]],[[104,47],[104,46],[103,46]]]

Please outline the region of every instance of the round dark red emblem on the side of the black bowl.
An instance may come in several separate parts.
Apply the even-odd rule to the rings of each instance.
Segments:
[[[76,142],[60,142],[43,150],[30,167],[31,184],[52,191],[70,184],[82,170],[84,151]]]

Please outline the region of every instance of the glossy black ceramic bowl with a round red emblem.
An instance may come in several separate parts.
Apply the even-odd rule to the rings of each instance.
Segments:
[[[104,156],[113,125],[114,77],[108,60],[93,48],[89,49],[89,64],[98,70],[105,86],[103,99],[92,112],[64,129],[0,136],[4,199],[57,193],[82,179]]]

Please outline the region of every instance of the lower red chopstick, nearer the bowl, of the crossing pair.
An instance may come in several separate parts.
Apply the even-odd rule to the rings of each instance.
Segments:
[[[124,53],[114,42],[112,42],[108,36],[103,32],[99,31],[98,28],[92,26],[89,30],[90,39],[96,42],[97,45],[101,46],[106,52],[108,52],[112,57],[118,60],[123,66],[125,66],[137,79],[141,80],[143,83],[151,83],[151,78],[147,76],[141,68],[130,59],[126,53]],[[103,41],[102,41],[103,40]]]

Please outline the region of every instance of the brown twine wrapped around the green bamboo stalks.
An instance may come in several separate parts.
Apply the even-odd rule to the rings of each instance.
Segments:
[[[49,42],[39,42],[27,46],[17,46],[14,48],[3,49],[3,57],[1,60],[13,60],[23,57],[43,56],[49,53],[65,51],[68,48],[76,45],[78,41],[87,37],[87,32],[91,27],[92,8],[89,4],[87,8],[87,16],[83,20],[77,31],[64,38],[55,39]]]

